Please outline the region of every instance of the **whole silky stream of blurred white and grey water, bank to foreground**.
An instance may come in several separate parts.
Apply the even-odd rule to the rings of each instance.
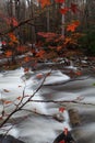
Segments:
[[[29,73],[26,79],[22,69],[5,72],[0,74],[0,98],[3,100],[12,100],[14,105],[5,105],[0,102],[0,112],[4,108],[7,113],[10,113],[15,108],[17,97],[23,95],[25,86],[25,95],[32,95],[41,82],[41,76],[45,70]],[[93,75],[83,75],[80,78],[69,81],[69,77],[60,70],[55,70],[47,78],[43,88],[34,96],[34,100],[51,100],[52,102],[31,102],[25,106],[25,109],[37,111],[39,114],[21,111],[12,118],[16,119],[14,124],[8,132],[26,143],[51,143],[55,138],[62,132],[63,128],[68,127],[72,131],[78,143],[95,143],[95,77]],[[64,84],[64,81],[67,81]],[[27,100],[28,96],[23,100]],[[66,101],[63,103],[54,101]],[[76,101],[76,102],[73,102]],[[54,114],[59,113],[59,108],[63,107],[67,110],[63,112],[63,122],[55,120]],[[69,109],[79,111],[81,124],[72,127],[68,114]],[[49,116],[48,116],[49,114]],[[24,117],[24,118],[23,118]],[[7,124],[10,127],[10,124]],[[5,127],[2,128],[2,130]],[[1,132],[2,132],[1,130]],[[7,129],[5,129],[7,130]],[[4,132],[4,131],[3,131]]]

